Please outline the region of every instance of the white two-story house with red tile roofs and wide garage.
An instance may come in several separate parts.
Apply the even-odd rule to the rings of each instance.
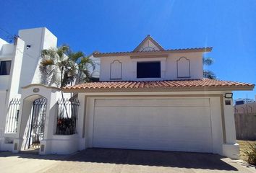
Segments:
[[[239,156],[232,91],[203,79],[212,48],[164,49],[150,35],[130,52],[100,53],[100,81],[67,86],[80,100],[77,148],[196,151]]]

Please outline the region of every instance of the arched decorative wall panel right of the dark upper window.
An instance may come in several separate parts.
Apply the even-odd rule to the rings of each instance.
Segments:
[[[189,78],[190,77],[190,62],[186,57],[181,57],[176,61],[177,63],[177,77]]]

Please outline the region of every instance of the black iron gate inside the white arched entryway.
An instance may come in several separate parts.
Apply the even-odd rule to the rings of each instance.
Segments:
[[[46,99],[35,99],[33,112],[30,118],[30,137],[28,148],[40,148],[40,141],[43,140],[44,125],[46,120]]]

